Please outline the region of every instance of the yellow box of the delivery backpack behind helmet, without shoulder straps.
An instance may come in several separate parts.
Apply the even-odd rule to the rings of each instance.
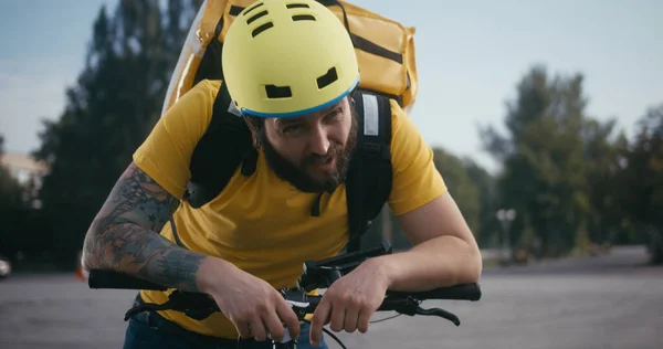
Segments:
[[[381,93],[409,110],[418,93],[414,28],[340,0],[317,0],[344,22],[359,61],[359,88]],[[201,80],[222,80],[221,47],[235,17],[255,0],[206,0],[170,80],[162,113]],[[293,1],[296,2],[296,1]]]

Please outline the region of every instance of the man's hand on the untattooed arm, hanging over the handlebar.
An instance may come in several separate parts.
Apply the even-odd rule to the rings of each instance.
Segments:
[[[379,257],[361,263],[325,292],[311,320],[311,343],[319,346],[323,326],[333,331],[368,331],[370,317],[385,300],[389,278]]]

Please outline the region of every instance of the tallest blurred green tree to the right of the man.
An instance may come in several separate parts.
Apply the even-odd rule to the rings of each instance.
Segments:
[[[568,253],[586,232],[582,75],[549,77],[533,67],[507,104],[507,136],[482,129],[484,147],[503,161],[499,203],[518,212],[511,245],[540,243],[544,255]],[[530,232],[532,234],[527,234]]]

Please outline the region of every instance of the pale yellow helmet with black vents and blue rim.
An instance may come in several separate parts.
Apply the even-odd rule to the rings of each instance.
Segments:
[[[337,103],[359,84],[343,22],[314,0],[259,0],[230,25],[223,76],[242,115],[290,117]]]

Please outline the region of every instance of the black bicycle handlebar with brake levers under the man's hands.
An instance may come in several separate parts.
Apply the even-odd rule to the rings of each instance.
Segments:
[[[391,246],[388,243],[352,253],[346,253],[320,261],[307,261],[304,263],[303,273],[294,288],[282,288],[281,294],[292,306],[299,321],[309,322],[305,319],[306,315],[315,311],[323,296],[308,295],[315,289],[328,288],[335,281],[351,272],[366,260],[383,254],[390,254]],[[152,289],[167,290],[167,287],[131,277],[126,274],[108,272],[102,269],[92,269],[88,278],[90,288],[117,288],[117,289]],[[439,316],[460,326],[457,316],[441,308],[424,309],[420,304],[427,299],[453,299],[476,302],[481,298],[481,288],[478,284],[464,284],[451,287],[435,288],[427,292],[391,292],[387,290],[385,300],[378,308],[378,311],[396,311],[400,315],[422,315]],[[134,306],[125,314],[125,321],[133,315],[144,310],[176,310],[183,313],[188,317],[197,320],[204,319],[215,311],[220,311],[214,299],[202,293],[191,293],[175,289],[164,304],[140,304]],[[386,320],[386,319],[382,319]],[[382,321],[379,320],[379,321]],[[323,328],[325,334],[332,337],[341,348],[346,346],[332,331]],[[294,349],[295,339],[290,338],[286,329],[286,336],[282,341],[272,341],[274,349]]]

